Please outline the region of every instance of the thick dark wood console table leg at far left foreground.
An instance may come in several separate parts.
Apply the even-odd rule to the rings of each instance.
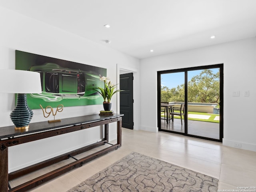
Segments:
[[[1,145],[0,147],[0,191],[8,191],[8,147]]]

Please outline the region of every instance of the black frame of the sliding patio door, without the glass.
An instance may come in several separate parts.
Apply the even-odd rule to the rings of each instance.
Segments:
[[[164,132],[171,132],[175,134],[181,134],[185,136],[190,136],[194,138],[200,138],[205,140],[212,140],[217,142],[222,142],[223,139],[223,63],[222,64],[214,64],[214,65],[206,65],[206,66],[197,66],[197,67],[190,67],[190,68],[180,68],[180,69],[173,69],[173,70],[164,70],[164,71],[158,71],[157,72],[157,114],[158,114],[158,131],[164,131]],[[188,111],[187,111],[187,104],[188,104],[188,71],[192,70],[202,70],[202,69],[210,69],[210,68],[220,68],[220,139],[213,139],[213,138],[206,138],[202,136],[196,136],[188,134]],[[174,132],[171,130],[163,130],[161,129],[161,74],[166,73],[175,73],[175,72],[184,72],[184,83],[185,83],[185,115],[184,115],[184,127],[185,131],[182,132]]]

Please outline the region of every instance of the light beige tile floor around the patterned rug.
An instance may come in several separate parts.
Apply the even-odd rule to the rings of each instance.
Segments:
[[[122,128],[121,148],[30,192],[65,192],[132,151],[218,178],[218,189],[222,191],[256,186],[256,152],[164,132],[152,133]],[[56,166],[60,164],[54,168]],[[27,180],[30,176],[14,180],[11,185]]]

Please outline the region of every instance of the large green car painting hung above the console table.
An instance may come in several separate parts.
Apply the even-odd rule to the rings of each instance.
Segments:
[[[102,105],[93,88],[104,87],[106,68],[15,50],[15,69],[40,73],[42,93],[27,94],[30,109]]]

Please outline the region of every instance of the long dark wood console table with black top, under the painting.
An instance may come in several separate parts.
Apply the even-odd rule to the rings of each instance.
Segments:
[[[36,122],[30,123],[29,129],[26,132],[22,132],[20,130],[14,130],[14,126],[0,127],[0,191],[1,192],[25,192],[30,190],[40,184],[43,184],[65,172],[68,172],[74,168],[78,168],[82,166],[84,163],[89,162],[99,156],[102,156],[112,150],[116,150],[121,147],[121,127],[122,127],[122,116],[123,114],[115,114],[113,116],[100,116],[98,114],[88,115],[88,116],[80,116],[73,118],[64,118],[60,122],[48,123],[48,121],[44,122]],[[80,154],[82,152],[86,152],[92,148],[95,148],[100,145],[104,145],[108,143],[108,124],[112,122],[117,122],[117,143],[95,152],[91,155],[88,155],[81,159],[76,159],[73,156]],[[28,166],[26,168],[11,172],[8,174],[8,147],[19,145],[26,142],[31,142],[35,140],[40,140],[43,138],[58,136],[61,134],[66,134],[74,131],[79,131],[95,126],[104,125],[104,138],[100,142],[96,142],[94,144],[82,147],[77,150],[73,150],[66,154],[62,154],[60,156],[51,158],[49,160],[34,164],[32,166]],[[45,166],[49,166],[56,162],[60,162],[62,160],[74,158],[76,161],[62,166],[56,170],[53,170],[47,174],[39,176],[33,180],[25,182],[19,186],[14,188],[10,188],[8,184],[9,180],[18,178],[35,170],[39,170],[40,168],[44,168]],[[9,188],[9,190],[8,190]]]

